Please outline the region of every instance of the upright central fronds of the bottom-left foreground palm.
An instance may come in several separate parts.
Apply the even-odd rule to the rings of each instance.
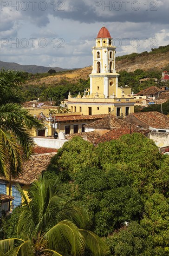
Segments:
[[[55,186],[53,186],[55,184]],[[17,189],[23,197],[22,213],[18,223],[18,232],[26,233],[27,237],[35,237],[44,233],[49,227],[56,223],[55,216],[59,205],[65,201],[62,195],[62,187],[58,181],[49,182],[39,177],[30,188],[30,200],[27,201],[25,194],[19,185]],[[55,195],[58,193],[58,195]]]

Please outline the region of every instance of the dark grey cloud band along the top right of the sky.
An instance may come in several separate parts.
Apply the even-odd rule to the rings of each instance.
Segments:
[[[116,5],[113,6],[113,3]],[[151,22],[168,24],[168,1],[65,1],[64,11],[53,11],[62,19],[92,22]],[[146,2],[148,5],[146,6]],[[153,5],[154,2],[154,5]],[[125,6],[125,3],[127,4]],[[151,5],[150,5],[151,3]],[[105,5],[109,6],[105,6]],[[146,10],[147,9],[147,10]]]

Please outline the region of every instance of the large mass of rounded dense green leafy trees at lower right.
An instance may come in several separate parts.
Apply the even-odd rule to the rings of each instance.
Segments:
[[[75,137],[45,173],[58,176],[71,200],[90,210],[92,230],[107,236],[110,254],[169,252],[169,156],[141,134],[123,135],[97,148]]]

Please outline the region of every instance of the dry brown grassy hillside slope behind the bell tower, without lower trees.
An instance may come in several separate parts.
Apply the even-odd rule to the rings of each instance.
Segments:
[[[143,52],[141,54],[128,54],[119,56],[116,58],[116,70],[117,72],[126,70],[127,72],[133,72],[136,69],[143,69],[143,71],[156,71],[162,70],[169,64],[169,45],[152,49],[150,53]],[[49,75],[43,74],[41,78],[40,74],[33,75],[31,81],[28,83],[32,85],[52,85],[59,82],[62,79],[66,79],[71,83],[74,83],[81,79],[88,79],[91,74],[92,67],[78,68],[75,70],[68,70],[65,72],[59,72],[57,74]]]

